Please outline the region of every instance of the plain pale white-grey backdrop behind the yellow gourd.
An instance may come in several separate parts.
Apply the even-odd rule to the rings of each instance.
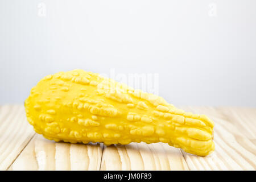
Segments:
[[[255,107],[256,1],[0,0],[0,61],[0,104],[80,68],[158,73],[175,105]]]

